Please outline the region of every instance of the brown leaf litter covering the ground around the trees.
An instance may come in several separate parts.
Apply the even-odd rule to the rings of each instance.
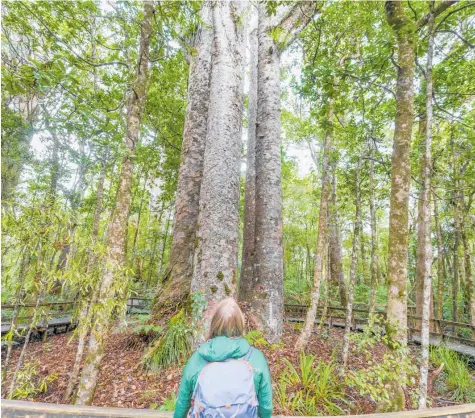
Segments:
[[[273,382],[277,382],[283,369],[282,358],[288,359],[295,366],[299,363],[299,355],[294,350],[298,337],[298,330],[292,324],[285,324],[283,344],[279,347],[263,348],[269,362]],[[41,375],[56,374],[57,379],[49,384],[46,393],[38,394],[28,399],[37,402],[64,403],[63,394],[68,383],[69,373],[73,368],[77,343],[70,341],[71,334],[60,334],[49,337],[44,343],[31,342],[25,362],[39,362]],[[309,343],[309,352],[314,354],[316,360],[330,362],[335,359],[336,348],[340,347],[343,339],[343,330],[338,328],[325,328],[318,335],[314,333]],[[132,344],[131,344],[132,342]],[[133,343],[135,342],[135,343]],[[93,405],[123,408],[156,408],[177,393],[183,365],[163,370],[160,373],[151,373],[143,369],[141,358],[145,349],[144,343],[137,343],[130,330],[112,334],[106,344],[105,356],[102,363]],[[381,344],[371,350],[373,363],[382,360],[386,347]],[[413,356],[419,354],[417,346],[411,347]],[[10,367],[16,364],[20,348],[15,348],[10,360]],[[349,367],[363,369],[368,367],[368,360],[364,354],[352,352],[348,361]],[[4,382],[8,387],[10,376]],[[415,390],[410,388],[409,391]],[[408,397],[409,398],[409,397]],[[448,405],[438,397],[430,388],[432,406]],[[354,389],[345,387],[345,399],[349,406],[345,410],[352,414],[372,413],[376,404],[366,396],[359,395]],[[410,401],[406,407],[412,409]],[[280,409],[275,405],[275,414],[284,414],[289,411]]]

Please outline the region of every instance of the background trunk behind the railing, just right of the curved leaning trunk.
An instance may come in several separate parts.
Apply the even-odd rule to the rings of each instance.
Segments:
[[[335,162],[336,164],[336,162]],[[340,222],[338,219],[338,206],[336,201],[336,167],[332,168],[332,194],[331,203],[329,206],[329,257],[330,257],[330,274],[333,283],[338,285],[340,291],[340,303],[341,306],[347,304],[347,291],[345,273],[343,272],[343,265],[341,261],[341,235],[340,235]],[[329,282],[328,282],[329,284]]]

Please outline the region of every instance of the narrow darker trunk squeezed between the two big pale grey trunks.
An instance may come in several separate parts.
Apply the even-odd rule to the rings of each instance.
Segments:
[[[251,302],[254,289],[254,251],[256,228],[256,126],[257,126],[257,65],[258,29],[249,36],[250,77],[247,128],[246,194],[244,197],[244,232],[239,298]]]

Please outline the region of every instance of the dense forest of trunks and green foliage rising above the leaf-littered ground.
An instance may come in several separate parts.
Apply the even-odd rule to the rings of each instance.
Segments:
[[[12,324],[36,306],[27,350],[43,303],[77,302],[65,399],[92,402],[134,295],[141,333],[235,296],[277,344],[284,302],[305,305],[300,350],[341,306],[343,369],[353,309],[387,307],[395,358],[409,310],[422,381],[430,318],[473,340],[474,6],[3,2],[2,303]]]

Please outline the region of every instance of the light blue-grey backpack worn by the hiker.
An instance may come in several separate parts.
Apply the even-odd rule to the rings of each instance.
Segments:
[[[249,358],[208,363],[198,375],[191,418],[257,418],[254,372]]]

